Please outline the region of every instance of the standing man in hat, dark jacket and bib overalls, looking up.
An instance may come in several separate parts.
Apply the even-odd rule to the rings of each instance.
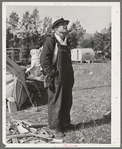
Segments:
[[[41,65],[48,77],[49,130],[56,138],[64,136],[62,130],[74,127],[70,124],[74,73],[66,37],[68,23],[62,17],[53,21],[54,34],[45,41],[41,54]]]

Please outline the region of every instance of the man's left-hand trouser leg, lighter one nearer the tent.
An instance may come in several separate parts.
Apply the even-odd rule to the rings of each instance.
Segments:
[[[50,129],[60,129],[61,125],[62,85],[48,88],[48,122]]]

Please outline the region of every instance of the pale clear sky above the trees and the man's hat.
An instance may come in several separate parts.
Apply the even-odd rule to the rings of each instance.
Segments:
[[[56,17],[62,16],[64,19],[70,20],[70,25],[75,21],[80,21],[83,29],[87,33],[94,34],[96,31],[101,32],[104,28],[108,28],[111,23],[111,6],[15,6],[10,5],[6,7],[6,17],[12,12],[16,12],[20,19],[26,11],[32,14],[37,7],[40,19],[43,20],[45,16]]]

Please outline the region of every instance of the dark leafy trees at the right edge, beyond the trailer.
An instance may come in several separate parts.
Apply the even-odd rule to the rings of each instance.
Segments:
[[[92,48],[97,59],[111,59],[111,24],[108,29],[96,32],[90,39],[82,39],[81,48]]]

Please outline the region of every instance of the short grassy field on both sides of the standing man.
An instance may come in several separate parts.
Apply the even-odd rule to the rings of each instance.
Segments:
[[[71,121],[76,130],[65,132],[65,143],[111,143],[111,120],[103,115],[111,110],[111,62],[73,64],[75,84]],[[6,113],[14,119],[47,124],[47,105]]]

